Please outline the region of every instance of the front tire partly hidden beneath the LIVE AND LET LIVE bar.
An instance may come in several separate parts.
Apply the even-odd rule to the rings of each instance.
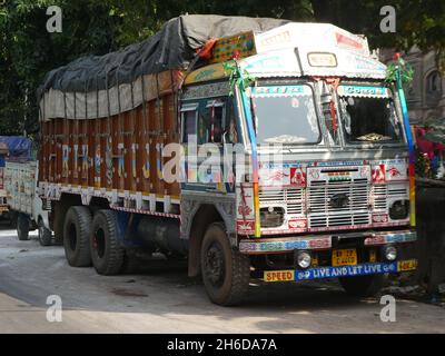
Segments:
[[[354,297],[374,297],[384,285],[384,275],[338,278],[343,289]]]

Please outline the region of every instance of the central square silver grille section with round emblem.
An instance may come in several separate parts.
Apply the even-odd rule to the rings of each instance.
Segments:
[[[335,206],[332,199],[340,195],[347,200],[342,206]],[[312,181],[307,189],[307,201],[309,229],[368,225],[370,221],[367,179]]]

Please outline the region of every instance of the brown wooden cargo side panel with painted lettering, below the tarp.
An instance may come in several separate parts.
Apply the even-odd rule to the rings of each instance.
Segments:
[[[178,139],[172,93],[109,118],[46,121],[40,181],[178,197],[162,179],[162,148]]]

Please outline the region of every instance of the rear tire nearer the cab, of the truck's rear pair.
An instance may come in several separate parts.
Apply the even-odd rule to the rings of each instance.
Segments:
[[[90,250],[92,265],[99,275],[113,276],[122,270],[125,249],[119,243],[117,214],[99,210],[92,219]]]

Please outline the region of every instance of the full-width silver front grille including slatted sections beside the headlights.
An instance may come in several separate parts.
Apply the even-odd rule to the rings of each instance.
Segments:
[[[324,179],[312,180],[306,188],[260,187],[259,201],[263,215],[269,207],[283,208],[284,222],[294,217],[306,218],[307,228],[316,231],[369,227],[377,222],[373,222],[375,216],[387,216],[389,206],[395,200],[408,199],[408,194],[407,182],[373,185],[368,178]],[[336,206],[332,202],[335,196],[347,197],[347,201]],[[269,217],[261,226],[278,227],[280,221],[273,221]],[[284,226],[287,228],[286,224]]]

